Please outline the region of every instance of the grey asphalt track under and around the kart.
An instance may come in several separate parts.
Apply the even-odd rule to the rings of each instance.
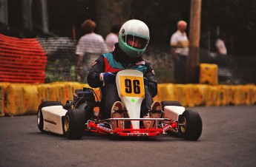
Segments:
[[[68,140],[39,132],[36,115],[0,117],[0,166],[256,166],[256,106],[191,109],[203,119],[196,142],[170,135]]]

